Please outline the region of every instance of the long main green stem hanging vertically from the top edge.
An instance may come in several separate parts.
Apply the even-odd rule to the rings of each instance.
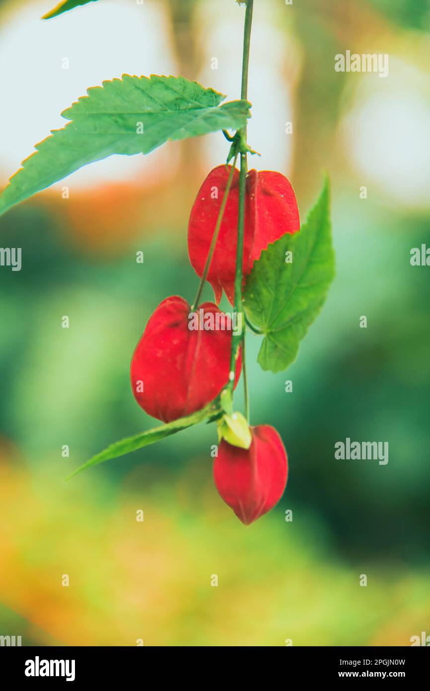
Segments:
[[[244,27],[244,53],[242,59],[242,89],[240,97],[243,100],[248,98],[248,70],[249,70],[249,48],[251,44],[251,26],[253,21],[253,0],[247,0],[245,12],[245,27]],[[236,251],[236,269],[235,269],[235,312],[237,317],[241,315],[243,329],[240,334],[232,334],[231,338],[231,354],[230,354],[230,381],[229,386],[233,390],[235,381],[235,363],[237,350],[241,343],[244,343],[245,324],[244,324],[244,310],[242,305],[242,269],[244,262],[244,228],[245,228],[245,199],[246,199],[246,174],[248,173],[248,157],[246,155],[246,125],[240,130],[240,179],[239,179],[239,218],[237,222],[237,251]],[[242,363],[244,372],[246,372],[245,353],[244,348],[242,352]],[[244,375],[245,377],[246,375]]]

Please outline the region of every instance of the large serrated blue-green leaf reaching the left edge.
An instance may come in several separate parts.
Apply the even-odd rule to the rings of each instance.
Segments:
[[[251,104],[184,77],[130,77],[88,89],[62,113],[71,120],[37,144],[0,197],[0,214],[93,161],[113,153],[150,153],[168,140],[239,129]]]

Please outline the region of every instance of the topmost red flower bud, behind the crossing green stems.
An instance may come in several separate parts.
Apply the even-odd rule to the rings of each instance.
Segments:
[[[197,273],[202,276],[219,207],[226,189],[231,166],[217,166],[199,189],[188,223],[188,254]],[[216,195],[216,198],[213,198]],[[239,171],[235,169],[233,182],[219,229],[217,245],[207,280],[219,303],[224,289],[228,300],[234,302],[234,282],[237,247],[237,218],[239,215]],[[285,233],[300,229],[299,210],[291,183],[275,171],[249,171],[246,176],[246,204],[244,231],[244,276],[269,243]]]

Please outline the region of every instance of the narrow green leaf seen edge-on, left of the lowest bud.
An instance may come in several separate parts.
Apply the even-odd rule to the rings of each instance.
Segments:
[[[100,453],[97,453],[95,456],[90,458],[89,461],[79,466],[79,468],[70,473],[65,480],[70,480],[71,477],[75,477],[75,475],[86,470],[86,468],[97,466],[99,463],[109,461],[113,458],[118,458],[119,456],[124,456],[126,453],[137,451],[138,448],[149,446],[149,444],[155,444],[155,442],[159,442],[160,439],[170,437],[170,435],[176,434],[177,432],[180,432],[181,430],[191,427],[199,422],[215,419],[219,412],[220,409],[217,407],[217,404],[211,403],[206,406],[206,408],[198,410],[197,413],[192,413],[192,415],[180,417],[178,420],[168,422],[168,424],[146,430],[146,432],[135,435],[135,437],[121,439],[119,442],[115,442],[115,444],[110,444],[110,446],[105,448],[104,451],[100,451]]]

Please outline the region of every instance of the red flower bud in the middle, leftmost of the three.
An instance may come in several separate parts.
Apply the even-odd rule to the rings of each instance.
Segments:
[[[190,305],[179,296],[166,298],[150,316],[133,354],[133,395],[148,415],[163,422],[204,408],[228,381],[232,332],[222,330],[223,312],[213,303],[200,305],[196,312],[204,319],[199,319],[198,329],[190,329]],[[215,328],[206,330],[205,323]],[[235,385],[241,367],[239,356]]]

